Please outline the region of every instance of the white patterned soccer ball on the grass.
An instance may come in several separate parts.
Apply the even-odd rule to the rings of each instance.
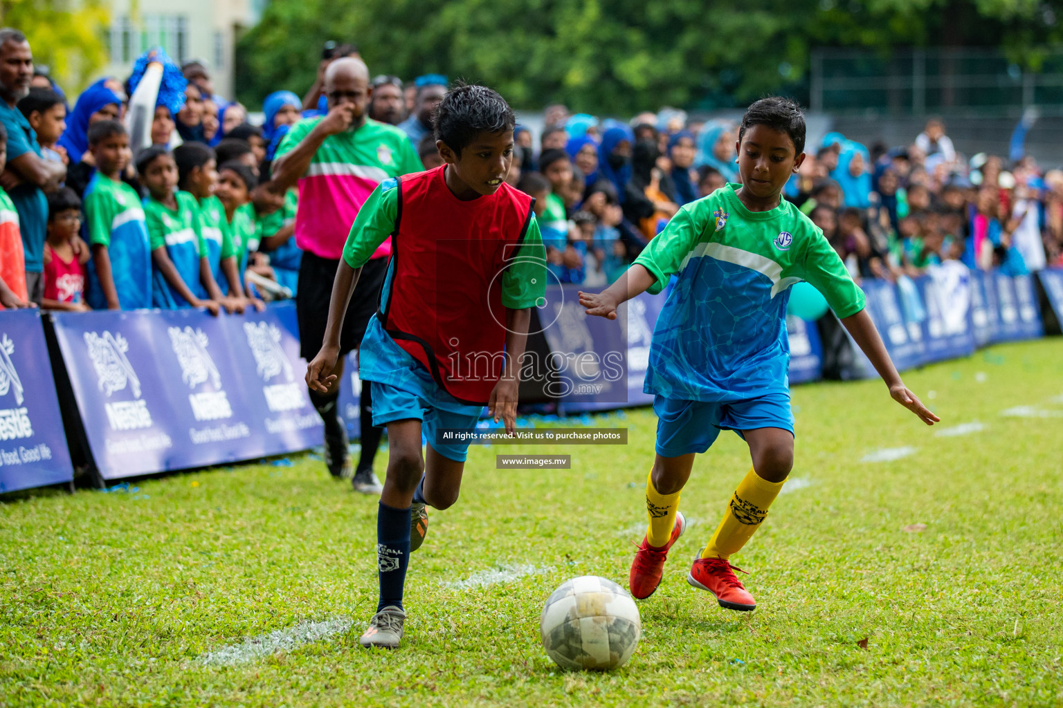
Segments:
[[[539,632],[546,654],[562,669],[608,671],[631,658],[642,622],[627,590],[604,577],[581,575],[550,595]]]

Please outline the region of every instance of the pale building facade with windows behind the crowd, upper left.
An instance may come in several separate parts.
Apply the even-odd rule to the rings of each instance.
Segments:
[[[109,0],[106,75],[124,80],[133,63],[163,47],[179,64],[202,62],[216,93],[233,97],[234,47],[238,33],[258,21],[258,0]]]

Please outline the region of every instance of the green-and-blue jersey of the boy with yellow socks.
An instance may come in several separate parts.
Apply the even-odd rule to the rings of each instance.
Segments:
[[[786,200],[749,211],[740,187],[684,206],[635,260],[656,278],[652,294],[676,276],[654,328],[646,393],[711,402],[784,392],[790,286],[808,281],[839,317],[864,307],[863,291],[808,217]]]

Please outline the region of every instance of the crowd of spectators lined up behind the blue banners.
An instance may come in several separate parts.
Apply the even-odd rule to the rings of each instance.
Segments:
[[[298,192],[271,188],[270,168],[293,124],[327,111],[330,63],[357,56],[331,45],[309,90],[271,93],[259,125],[215,93],[207,67],[184,65],[179,100],[159,96],[152,146],[134,155],[129,81],[103,77],[71,106],[34,70],[26,37],[0,31],[0,304],[217,312],[294,296]],[[368,117],[401,128],[425,169],[441,165],[432,116],[446,77],[371,85]],[[727,121],[664,108],[624,122],[562,105],[543,118],[538,136],[518,126],[507,180],[536,197],[560,282],[612,282],[685,204],[738,180]],[[856,277],[896,280],[949,259],[1015,275],[1063,264],[1063,172],[961,155],[940,120],[895,148],[828,134],[786,197]]]

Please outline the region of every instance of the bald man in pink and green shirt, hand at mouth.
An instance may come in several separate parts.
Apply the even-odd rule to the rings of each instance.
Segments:
[[[296,244],[303,251],[299,266],[296,311],[302,356],[309,361],[321,349],[333,280],[343,254],[351,224],[376,185],[424,169],[406,134],[366,115],[372,88],[369,69],[356,58],[341,58],[325,72],[328,114],[296,123],[277,146],[271,188],[277,193],[298,186]],[[376,310],[391,240],[376,249],[362,266],[348,306],[340,336],[336,382],[327,394],[309,391],[310,400],[325,426],[325,464],[335,478],[350,474],[347,430],[339,418],[337,399],[343,380],[343,359],[357,349],[369,318]],[[379,494],[372,460],[381,432],[372,427],[369,386],[361,390],[361,457],[354,472],[354,488]]]

